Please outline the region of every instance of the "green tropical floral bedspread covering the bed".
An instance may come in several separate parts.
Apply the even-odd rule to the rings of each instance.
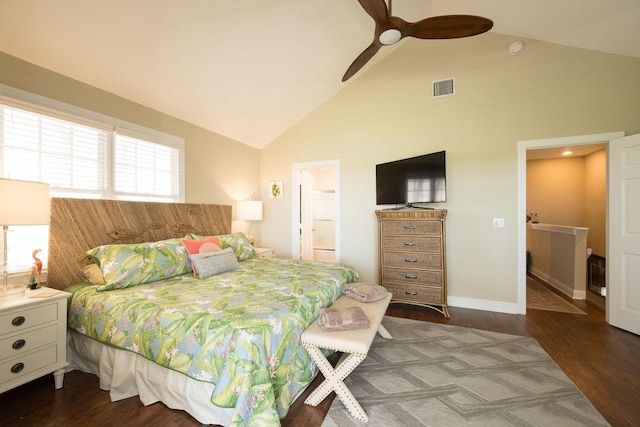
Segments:
[[[97,292],[78,290],[69,328],[214,383],[211,402],[235,408],[233,425],[279,425],[316,374],[300,343],[344,283],[345,264],[254,258],[207,279],[184,274]]]

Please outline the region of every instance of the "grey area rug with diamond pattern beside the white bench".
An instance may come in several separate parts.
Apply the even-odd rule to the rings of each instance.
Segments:
[[[323,427],[608,426],[535,339],[385,317],[345,380],[369,416],[336,398]]]

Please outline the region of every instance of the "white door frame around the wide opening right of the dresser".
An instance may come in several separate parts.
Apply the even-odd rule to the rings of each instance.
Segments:
[[[535,139],[518,141],[518,302],[517,313],[527,313],[527,150],[539,148],[554,148],[588,144],[606,144],[609,150],[609,141],[621,138],[623,131],[608,132],[591,135],[568,136],[549,139]],[[609,168],[607,168],[607,180]],[[609,194],[607,192],[607,225],[609,223]],[[609,248],[607,247],[607,252]],[[607,257],[608,257],[607,253]]]

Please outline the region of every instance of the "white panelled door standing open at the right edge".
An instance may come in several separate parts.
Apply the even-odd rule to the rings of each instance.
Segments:
[[[640,334],[640,134],[609,142],[607,321]]]

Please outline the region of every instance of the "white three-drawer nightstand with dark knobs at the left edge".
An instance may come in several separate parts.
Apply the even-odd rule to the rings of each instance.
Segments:
[[[0,393],[52,372],[62,388],[69,296],[40,288],[0,299]]]

